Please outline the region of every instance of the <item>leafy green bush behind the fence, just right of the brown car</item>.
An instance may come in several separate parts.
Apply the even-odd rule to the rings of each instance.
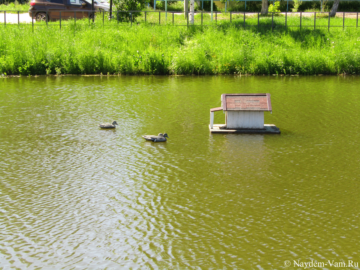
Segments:
[[[145,0],[113,0],[114,10],[143,10],[145,8]],[[135,21],[136,17],[140,16],[140,12],[118,12],[118,21],[120,22],[129,22],[131,20]]]

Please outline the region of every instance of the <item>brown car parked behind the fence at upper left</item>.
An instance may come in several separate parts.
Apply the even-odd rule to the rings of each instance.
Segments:
[[[107,2],[94,0],[95,10],[110,10]],[[92,18],[89,0],[31,0],[29,16],[36,21],[54,21],[60,19]]]

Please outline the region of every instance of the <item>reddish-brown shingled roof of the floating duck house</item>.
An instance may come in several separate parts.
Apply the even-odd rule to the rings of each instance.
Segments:
[[[270,94],[222,94],[223,111],[271,111]]]

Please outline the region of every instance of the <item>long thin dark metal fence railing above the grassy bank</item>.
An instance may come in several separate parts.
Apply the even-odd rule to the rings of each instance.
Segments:
[[[190,15],[190,12],[165,11],[0,11],[0,26],[27,25],[34,28],[52,25],[59,26],[61,29],[62,26],[72,22],[75,25],[133,26],[147,23],[189,27],[191,25]],[[331,17],[330,12],[270,12],[267,15],[262,15],[259,12],[194,12],[195,26],[214,26],[219,23],[228,23],[243,28],[268,27],[271,30],[274,28],[287,29],[288,27],[307,27],[314,28],[314,30],[327,27],[330,30],[330,27],[342,27],[343,29],[345,27],[358,27],[358,21],[359,12],[336,13],[335,17]]]

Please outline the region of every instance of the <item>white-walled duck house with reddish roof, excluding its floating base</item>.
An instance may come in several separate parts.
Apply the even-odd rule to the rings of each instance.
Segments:
[[[226,129],[264,129],[264,111],[271,111],[270,94],[222,94],[222,107],[210,110],[213,128],[214,111],[225,111]]]

